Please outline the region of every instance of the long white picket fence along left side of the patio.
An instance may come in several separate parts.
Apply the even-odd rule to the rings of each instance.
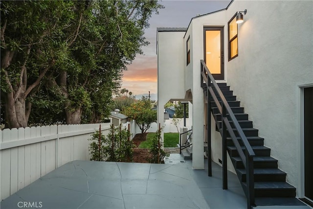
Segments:
[[[61,165],[89,160],[90,135],[100,124],[52,125],[0,131],[1,200]],[[102,123],[104,135],[110,123]]]

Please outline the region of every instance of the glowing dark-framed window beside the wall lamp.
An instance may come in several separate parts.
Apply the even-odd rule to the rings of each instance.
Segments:
[[[238,27],[236,15],[228,22],[228,61],[238,56]]]

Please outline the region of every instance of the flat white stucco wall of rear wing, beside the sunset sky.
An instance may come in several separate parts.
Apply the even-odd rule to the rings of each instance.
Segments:
[[[157,124],[161,127],[164,126],[164,105],[170,99],[185,97],[184,34],[179,31],[157,33]]]

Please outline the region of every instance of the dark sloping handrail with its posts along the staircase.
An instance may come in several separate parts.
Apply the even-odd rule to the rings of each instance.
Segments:
[[[223,138],[223,188],[227,189],[227,159],[226,159],[226,134],[227,131],[229,132],[229,135],[234,142],[234,145],[238,151],[238,154],[243,161],[243,164],[246,168],[246,197],[247,197],[247,207],[250,208],[250,206],[254,205],[254,174],[253,174],[253,157],[255,156],[255,153],[249,144],[248,140],[246,139],[246,135],[244,134],[244,131],[242,130],[241,126],[239,125],[239,122],[237,118],[235,117],[233,111],[231,110],[224,94],[222,93],[220,87],[216,83],[213,75],[210,73],[209,69],[207,68],[205,62],[203,60],[201,62],[201,87],[203,88],[206,86],[207,88],[207,102],[210,102],[210,95],[212,96],[214,102],[216,103],[216,106],[221,114],[222,117],[222,138]],[[204,81],[204,83],[203,83]],[[217,99],[216,94],[214,93],[212,86],[216,89],[218,96],[221,98],[222,105]],[[209,104],[208,104],[209,107]],[[210,110],[208,110],[208,113]],[[246,154],[244,153],[244,150],[242,149],[234,131],[231,127],[229,120],[227,118],[227,115],[231,118],[234,124],[234,129],[238,132],[239,137],[242,139],[242,142],[246,148]],[[209,118],[208,118],[209,120]],[[210,127],[208,127],[209,129]],[[208,140],[209,142],[210,140]],[[208,144],[208,149],[211,147]],[[208,150],[209,151],[209,150]],[[208,154],[210,151],[208,152]],[[208,159],[209,160],[209,159]],[[211,164],[208,163],[210,166]],[[212,169],[212,168],[208,168]],[[211,171],[208,171],[208,173],[211,173]],[[212,174],[211,174],[212,175]]]

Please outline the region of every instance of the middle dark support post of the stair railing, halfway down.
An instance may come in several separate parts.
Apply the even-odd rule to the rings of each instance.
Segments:
[[[222,102],[222,165],[223,165],[223,189],[227,189],[227,129],[224,122],[226,117],[226,108]]]

